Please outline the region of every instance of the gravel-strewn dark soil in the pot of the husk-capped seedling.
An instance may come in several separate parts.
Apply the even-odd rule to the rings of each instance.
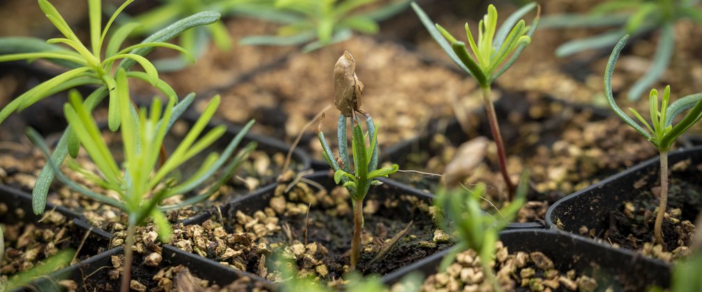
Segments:
[[[279,186],[268,207],[253,214],[232,211],[230,215],[224,213],[222,219],[217,215],[202,225],[176,230],[173,245],[272,281],[281,281],[281,274],[277,269],[268,270],[265,263],[279,254],[296,260],[299,275],[338,284],[334,281],[349,270],[352,215],[347,191],[338,187],[327,194],[298,183],[285,194],[284,187]],[[386,274],[451,246],[451,239],[437,231],[425,202],[411,195],[374,199],[379,198],[378,192],[382,187],[371,190],[364,204],[361,272]],[[408,232],[373,263],[373,258],[388,246],[388,239],[411,220]],[[274,261],[272,265],[277,264]]]

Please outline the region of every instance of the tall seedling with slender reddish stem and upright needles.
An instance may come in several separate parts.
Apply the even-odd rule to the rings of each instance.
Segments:
[[[488,6],[488,12],[478,23],[477,41],[473,38],[468,23],[465,24],[465,32],[468,36],[468,43],[473,55],[468,53],[463,41],[458,41],[441,25],[438,25],[429,18],[417,4],[413,3],[412,8],[419,16],[423,25],[428,29],[431,36],[437,41],[446,54],[449,55],[458,67],[475,78],[482,91],[483,103],[487,112],[487,119],[490,123],[490,131],[497,146],[500,171],[507,185],[510,199],[514,197],[515,185],[510,179],[507,171],[507,156],[505,146],[500,134],[500,126],[495,114],[492,102],[491,86],[517,60],[524,48],[531,42],[531,35],[538,25],[539,10],[537,8],[536,18],[531,27],[525,25],[522,18],[531,9],[538,7],[536,3],[528,4],[514,14],[510,15],[502,26],[497,29],[497,9],[492,4]]]

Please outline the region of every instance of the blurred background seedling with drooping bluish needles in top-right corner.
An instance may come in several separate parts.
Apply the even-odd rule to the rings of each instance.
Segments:
[[[631,86],[629,100],[641,95],[663,76],[675,51],[675,23],[690,19],[702,23],[698,0],[610,0],[594,6],[584,15],[552,15],[544,18],[542,27],[612,27],[611,30],[562,44],[556,55],[565,57],[582,51],[611,48],[625,34],[641,35],[659,31],[658,44],[651,67]]]

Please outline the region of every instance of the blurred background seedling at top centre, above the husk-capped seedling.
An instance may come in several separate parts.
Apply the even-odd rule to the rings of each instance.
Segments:
[[[358,8],[377,0],[275,0],[268,9],[246,13],[249,16],[272,22],[282,22],[275,36],[247,36],[241,44],[303,46],[310,52],[330,44],[345,41],[352,32],[375,34],[378,21],[390,18],[404,10],[409,0],[396,0],[368,12],[356,12]]]

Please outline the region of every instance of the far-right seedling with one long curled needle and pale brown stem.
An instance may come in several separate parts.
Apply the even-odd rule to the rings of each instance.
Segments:
[[[663,226],[663,215],[665,214],[668,204],[668,150],[678,136],[685,133],[687,129],[702,118],[702,93],[687,95],[684,98],[670,103],[670,86],[665,86],[661,98],[661,109],[658,110],[658,91],[652,89],[649,93],[651,124],[633,109],[629,110],[646,128],[643,128],[636,121],[628,117],[627,114],[616,105],[616,102],[614,102],[611,84],[616,60],[619,58],[619,53],[621,53],[622,48],[624,48],[628,37],[628,35],[623,36],[609,56],[609,62],[607,62],[607,68],[604,72],[604,94],[607,95],[607,102],[614,113],[625,121],[626,124],[644,136],[644,138],[651,141],[660,154],[661,201],[658,204],[658,214],[656,215],[656,223],[654,224],[654,236],[656,237],[656,244],[662,244],[663,248],[665,248],[661,227]],[[675,117],[686,110],[689,110],[689,112],[687,112],[677,124],[673,124]]]

